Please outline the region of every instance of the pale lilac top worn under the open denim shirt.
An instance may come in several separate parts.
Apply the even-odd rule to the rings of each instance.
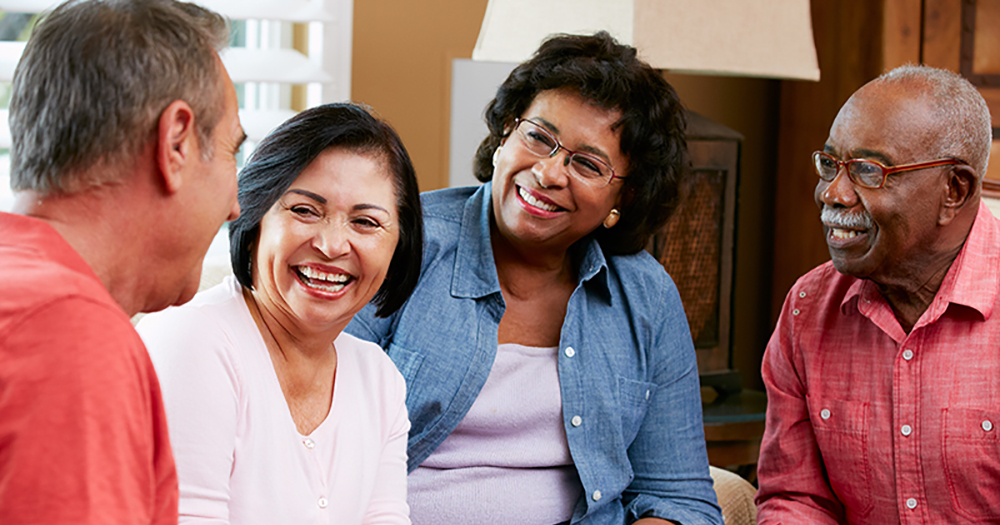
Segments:
[[[455,431],[410,474],[413,523],[568,521],[580,497],[557,348],[504,344]]]

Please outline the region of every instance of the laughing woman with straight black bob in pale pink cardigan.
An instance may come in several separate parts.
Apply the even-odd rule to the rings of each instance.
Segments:
[[[364,108],[296,115],[254,151],[230,225],[235,278],[142,319],[163,389],[181,523],[408,524],[406,385],[344,332],[417,283],[410,157]]]

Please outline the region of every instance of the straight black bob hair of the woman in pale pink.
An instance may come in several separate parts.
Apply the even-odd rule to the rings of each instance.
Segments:
[[[389,124],[354,104],[307,109],[271,132],[240,172],[240,216],[229,225],[229,255],[236,279],[253,288],[253,249],[260,221],[320,153],[344,148],[384,159],[392,174],[399,216],[399,242],[381,288],[372,298],[375,315],[399,310],[417,286],[423,252],[420,191],[410,155]]]

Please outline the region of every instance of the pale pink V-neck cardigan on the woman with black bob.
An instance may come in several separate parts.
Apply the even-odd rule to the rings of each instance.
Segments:
[[[378,346],[337,338],[333,406],[302,436],[235,279],[138,330],[163,387],[182,524],[409,523],[406,386]]]

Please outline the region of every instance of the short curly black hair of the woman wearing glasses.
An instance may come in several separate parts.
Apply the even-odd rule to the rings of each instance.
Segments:
[[[486,108],[490,134],[473,161],[476,178],[493,178],[493,152],[514,119],[535,97],[550,89],[572,89],[605,109],[621,111],[613,126],[621,132],[621,151],[629,170],[623,180],[621,220],[593,235],[610,255],[637,253],[670,218],[685,162],[684,112],[674,88],[658,71],[636,57],[631,46],[607,32],[590,36],[556,35],[517,66]]]

